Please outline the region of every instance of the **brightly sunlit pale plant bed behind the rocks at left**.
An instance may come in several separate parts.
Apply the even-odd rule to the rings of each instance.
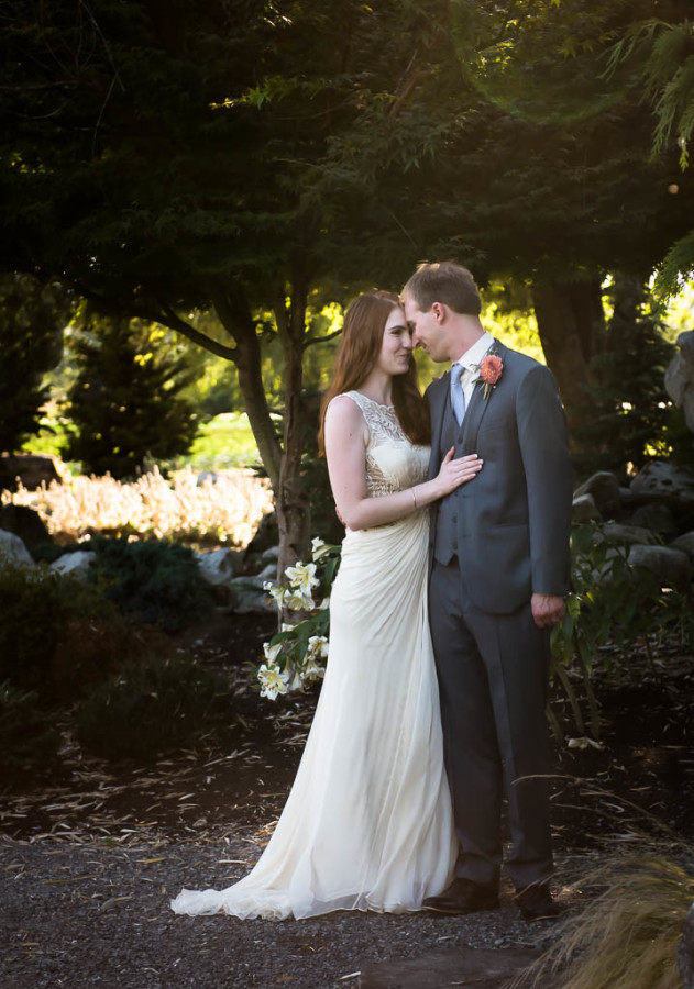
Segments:
[[[130,484],[110,476],[74,477],[30,491],[20,485],[3,501],[36,509],[53,535],[122,532],[246,546],[272,511],[269,484],[249,469],[217,473],[200,485],[190,467],[164,478],[155,466]]]

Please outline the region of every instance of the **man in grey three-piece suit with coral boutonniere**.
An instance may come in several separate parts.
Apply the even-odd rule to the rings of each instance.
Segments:
[[[432,507],[429,609],[445,764],[460,853],[455,878],[423,905],[498,907],[505,869],[526,920],[554,916],[549,878],[549,634],[569,590],[572,475],[554,378],[485,332],[466,268],[420,265],[403,290],[412,341],[451,373],[426,393],[429,476],[452,446],[484,467]]]

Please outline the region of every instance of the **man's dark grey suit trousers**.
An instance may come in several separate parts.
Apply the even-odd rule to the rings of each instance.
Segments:
[[[522,887],[552,873],[546,703],[549,633],[529,602],[488,614],[470,601],[458,559],[433,560],[429,586],[445,766],[460,841],[456,876],[497,882],[500,816],[508,802],[513,848],[506,873]],[[529,779],[527,777],[536,777]]]

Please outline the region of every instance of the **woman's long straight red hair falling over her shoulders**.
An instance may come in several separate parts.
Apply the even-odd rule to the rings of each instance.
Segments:
[[[342,338],[335,357],[332,381],[320,407],[318,448],[326,454],[326,410],[337,395],[359,389],[381,353],[388,316],[400,305],[394,292],[374,291],[357,296],[344,314]],[[393,405],[405,435],[412,443],[430,442],[429,411],[417,384],[417,365],[410,360],[404,375],[393,376]]]

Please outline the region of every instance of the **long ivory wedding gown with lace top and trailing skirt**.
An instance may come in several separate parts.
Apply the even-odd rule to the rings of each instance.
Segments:
[[[370,494],[421,482],[428,448],[412,446],[390,407],[348,395],[368,425]],[[425,509],[348,531],[326,678],[275,832],[244,879],[185,889],[176,913],[398,913],[448,885],[456,844],[427,615],[428,526]]]

